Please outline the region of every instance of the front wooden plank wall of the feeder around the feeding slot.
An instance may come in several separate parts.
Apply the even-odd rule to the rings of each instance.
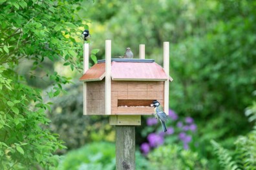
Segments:
[[[118,99],[158,100],[164,106],[164,82],[111,81],[111,114],[152,114],[154,108],[118,107]]]

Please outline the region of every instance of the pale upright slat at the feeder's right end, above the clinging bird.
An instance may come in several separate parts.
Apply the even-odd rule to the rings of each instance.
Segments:
[[[169,42],[164,42],[164,71],[169,77]],[[169,114],[169,79],[164,82],[164,112]]]

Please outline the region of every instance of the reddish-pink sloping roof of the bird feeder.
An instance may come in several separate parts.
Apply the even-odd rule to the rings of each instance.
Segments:
[[[80,81],[98,81],[105,77],[105,60],[87,70]],[[111,59],[112,80],[172,80],[164,69],[152,59]]]

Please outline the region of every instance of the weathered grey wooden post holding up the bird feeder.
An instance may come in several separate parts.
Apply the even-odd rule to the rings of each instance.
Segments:
[[[116,170],[135,169],[135,127],[116,126]]]

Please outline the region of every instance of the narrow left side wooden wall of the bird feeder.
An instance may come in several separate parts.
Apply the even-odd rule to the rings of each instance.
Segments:
[[[87,115],[105,115],[105,79],[87,82]]]

